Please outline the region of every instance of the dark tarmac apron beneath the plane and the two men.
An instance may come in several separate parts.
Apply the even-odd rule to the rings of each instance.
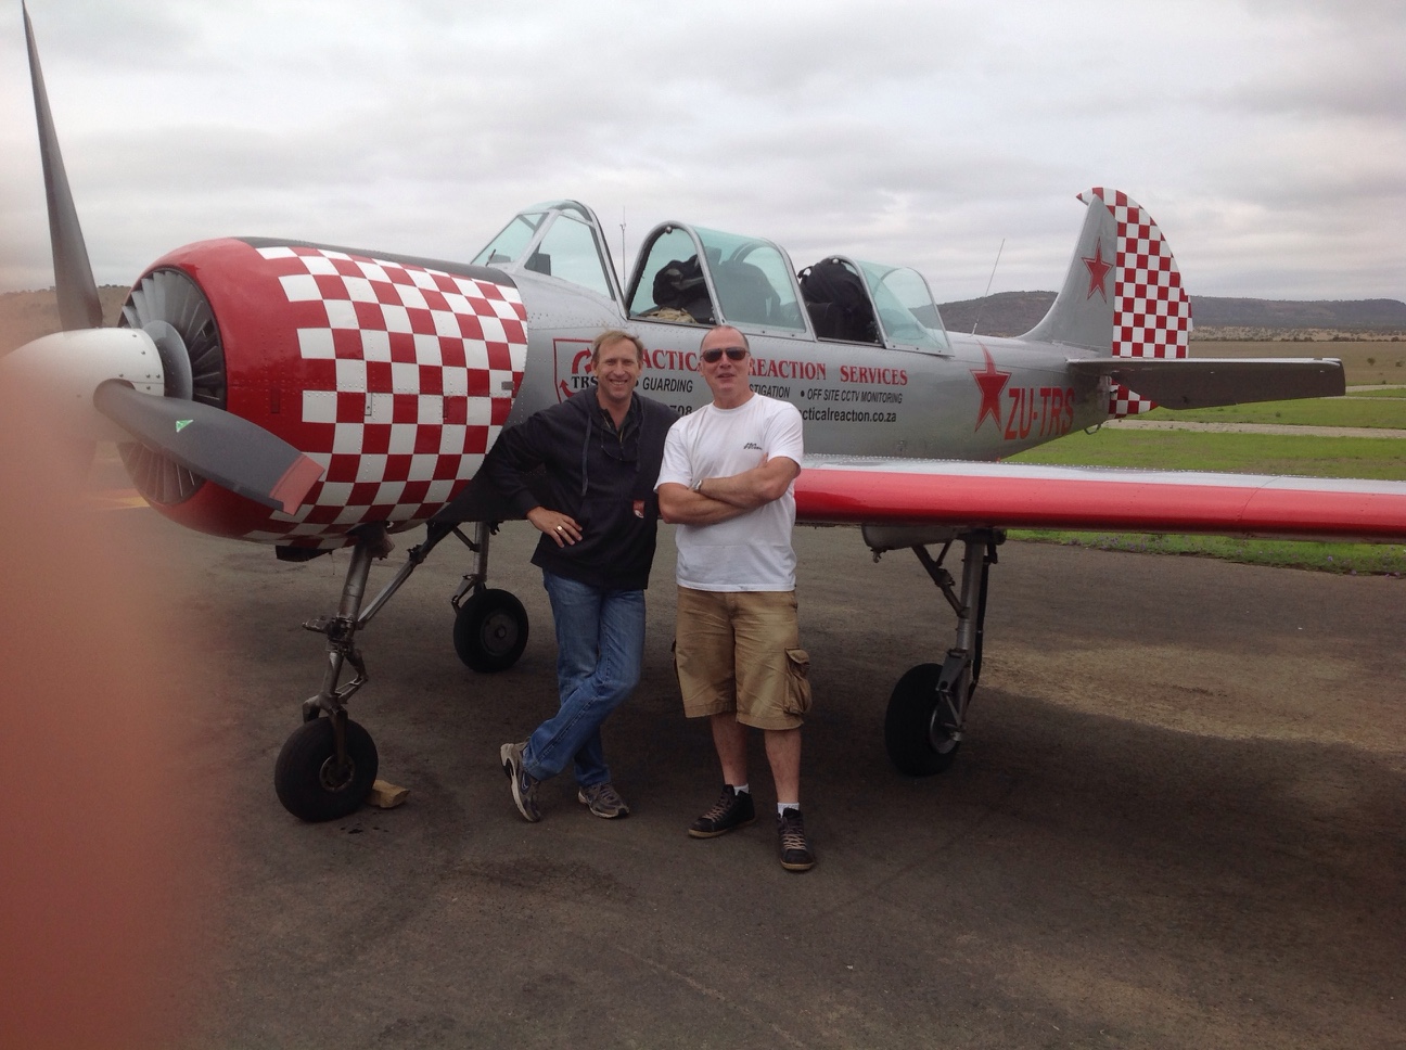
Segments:
[[[765,815],[685,835],[720,776],[672,679],[668,529],[644,682],[606,727],[631,817],[591,817],[569,773],[540,824],[513,808],[498,748],[555,685],[536,534],[510,524],[492,585],[527,606],[522,661],[454,656],[447,541],[361,634],[350,703],[409,800],[309,825],[273,763],[322,673],[299,624],[347,555],[104,513],[201,640],[180,763],[208,817],[180,850],[214,904],[167,992],[181,1046],[1406,1046],[1406,581],[1007,544],[967,742],[907,779],[884,706],[950,610],[911,555],[800,529],[820,863],[792,874]],[[770,811],[759,741],[751,782]]]

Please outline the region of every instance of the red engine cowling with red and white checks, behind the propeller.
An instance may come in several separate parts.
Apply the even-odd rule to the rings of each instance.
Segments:
[[[323,467],[291,514],[208,482],[157,507],[201,531],[333,548],[359,524],[423,521],[474,477],[522,384],[526,311],[481,268],[235,239],[159,267],[209,302],[226,409]]]

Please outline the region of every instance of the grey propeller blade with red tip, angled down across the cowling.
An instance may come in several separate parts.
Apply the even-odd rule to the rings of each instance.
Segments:
[[[291,514],[322,467],[247,419],[198,401],[141,394],[108,380],[93,392],[97,410],[217,485]]]

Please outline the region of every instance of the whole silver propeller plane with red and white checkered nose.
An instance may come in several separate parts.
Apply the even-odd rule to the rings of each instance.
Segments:
[[[907,773],[945,769],[962,741],[1005,529],[1406,538],[1400,484],[1000,462],[1152,403],[1344,391],[1333,360],[1188,357],[1191,306],[1166,239],[1102,188],[1080,195],[1063,290],[1018,339],[946,332],[914,270],[828,257],[797,274],[769,240],[682,222],[648,236],[621,288],[600,223],[574,201],[523,211],[471,263],[287,239],[187,245],[104,329],[28,14],[25,32],[65,332],[13,351],[6,372],[58,392],[75,430],[117,440],[172,520],[284,558],[353,548],[336,613],[309,624],[328,637],[322,687],[276,767],[304,819],[344,815],[375,777],[375,745],[346,713],[364,680],[356,633],[440,540],[475,554],[453,597],[460,656],[494,670],[522,654],[522,604],[486,588],[491,529],[513,514],[475,472],[505,424],[592,382],[589,342],[606,328],[644,340],[641,389],[681,413],[709,399],[702,335],[745,332],[754,389],[806,419],[799,519],[862,526],[876,552],[912,548],[943,590],[956,642],[889,704],[889,753]],[[425,538],[363,606],[387,534],[418,526]],[[960,582],[941,564],[952,543]]]

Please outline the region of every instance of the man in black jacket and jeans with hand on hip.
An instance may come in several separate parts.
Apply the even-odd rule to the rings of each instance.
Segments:
[[[637,396],[644,344],[602,332],[596,385],[509,427],[484,461],[488,479],[541,531],[541,569],[557,628],[561,708],[499,751],[513,801],[540,821],[537,784],[575,762],[576,798],[596,817],[630,808],[610,783],[600,725],[634,690],[644,654],[644,589],[659,517],[654,484],[675,413]],[[546,469],[538,500],[527,474]]]

